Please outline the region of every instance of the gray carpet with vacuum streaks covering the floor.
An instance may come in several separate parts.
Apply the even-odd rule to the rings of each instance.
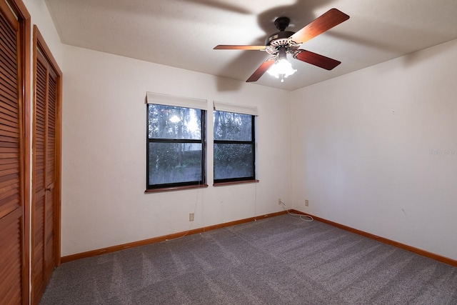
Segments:
[[[282,215],[62,264],[40,304],[457,304],[457,268]]]

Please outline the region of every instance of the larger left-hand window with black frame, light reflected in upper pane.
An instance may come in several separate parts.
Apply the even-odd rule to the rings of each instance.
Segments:
[[[205,183],[205,114],[203,109],[148,104],[148,190]]]

